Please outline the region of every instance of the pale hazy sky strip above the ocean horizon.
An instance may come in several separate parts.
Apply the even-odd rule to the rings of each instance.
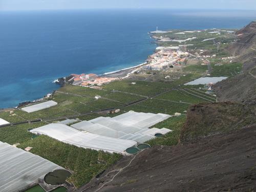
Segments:
[[[0,10],[38,9],[256,9],[256,0],[0,0]]]

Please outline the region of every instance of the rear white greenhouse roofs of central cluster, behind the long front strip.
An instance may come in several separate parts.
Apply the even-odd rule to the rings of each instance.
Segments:
[[[71,126],[78,131],[86,131],[101,136],[134,140],[138,143],[143,143],[155,138],[154,133],[150,134],[154,129],[148,128],[169,117],[170,115],[161,113],[137,113],[130,111],[113,118],[98,117],[90,121],[82,121]],[[165,131],[162,129],[157,130],[158,133],[161,134],[170,132],[168,129],[165,129]]]

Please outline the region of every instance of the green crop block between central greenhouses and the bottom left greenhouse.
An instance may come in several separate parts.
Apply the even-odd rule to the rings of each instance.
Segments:
[[[84,149],[62,143],[47,136],[39,136],[27,140],[18,147],[33,147],[30,151],[35,155],[48,159],[62,167],[70,169],[73,174],[68,179],[76,187],[89,182],[93,177],[117,162],[121,155]]]

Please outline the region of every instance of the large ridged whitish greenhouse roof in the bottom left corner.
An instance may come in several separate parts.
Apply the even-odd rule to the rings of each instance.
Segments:
[[[64,169],[44,158],[0,142],[0,191],[19,191],[43,179],[55,169]]]

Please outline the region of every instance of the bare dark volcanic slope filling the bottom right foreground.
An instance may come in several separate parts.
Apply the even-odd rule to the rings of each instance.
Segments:
[[[256,126],[252,126],[184,145],[150,148],[98,191],[256,190],[255,138]],[[122,159],[112,169],[124,167],[130,159]],[[84,188],[95,191],[116,173],[94,179]]]

